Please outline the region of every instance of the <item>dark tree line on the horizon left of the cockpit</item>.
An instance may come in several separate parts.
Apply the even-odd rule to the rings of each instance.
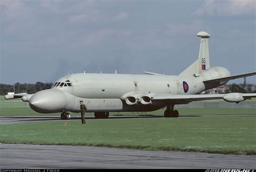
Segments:
[[[6,95],[8,92],[15,93],[28,93],[33,94],[38,91],[50,89],[52,86],[51,82],[43,83],[43,82],[36,82],[35,84],[28,84],[28,83],[15,83],[14,85],[9,84],[0,84],[0,95]]]

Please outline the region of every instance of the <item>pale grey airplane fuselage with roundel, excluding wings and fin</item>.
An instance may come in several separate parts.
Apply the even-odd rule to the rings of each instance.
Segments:
[[[227,77],[230,72],[223,67],[212,67],[200,77],[184,77],[180,75],[148,75],[148,74],[96,74],[77,73],[66,75],[56,82],[72,86],[52,87],[37,92],[29,100],[30,107],[39,113],[57,113],[63,111],[80,112],[79,101],[87,106],[87,112],[148,112],[166,106],[166,103],[154,102],[143,104],[136,101],[129,104],[126,98],[130,94],[140,92],[164,94],[198,94],[204,90],[223,85],[205,85],[203,80]]]

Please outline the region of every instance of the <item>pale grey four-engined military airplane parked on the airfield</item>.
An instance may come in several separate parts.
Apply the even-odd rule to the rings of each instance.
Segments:
[[[197,36],[201,38],[199,57],[179,75],[76,73],[58,79],[49,90],[5,95],[5,99],[22,98],[36,112],[61,113],[60,118],[67,120],[69,112],[80,112],[80,100],[95,118],[108,118],[109,112],[150,112],[165,107],[165,118],[177,118],[175,105],[218,99],[238,104],[255,98],[255,93],[200,94],[256,72],[231,75],[224,67],[210,67],[211,36],[205,31]]]

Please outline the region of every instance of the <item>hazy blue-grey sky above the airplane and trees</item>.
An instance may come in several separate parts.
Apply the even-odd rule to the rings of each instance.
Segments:
[[[199,31],[211,35],[211,66],[256,71],[254,0],[0,0],[0,15],[2,84],[84,71],[178,75],[198,58]]]

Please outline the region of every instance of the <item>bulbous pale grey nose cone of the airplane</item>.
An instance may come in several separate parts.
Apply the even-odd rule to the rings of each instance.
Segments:
[[[29,106],[39,113],[62,112],[66,106],[66,96],[60,90],[50,89],[32,95]]]

